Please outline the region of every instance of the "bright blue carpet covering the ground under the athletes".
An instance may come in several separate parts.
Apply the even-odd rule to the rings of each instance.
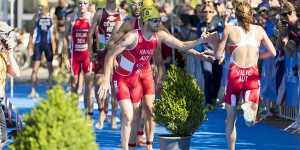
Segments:
[[[37,86],[37,92],[40,97],[44,96],[46,91],[45,85]],[[9,89],[8,89],[9,90]],[[36,105],[37,100],[28,99],[30,93],[30,85],[15,85],[14,98],[11,99],[13,104],[19,108],[20,113],[29,113],[31,108]],[[9,95],[9,93],[7,93]],[[83,102],[79,103],[79,107],[83,108]],[[110,109],[110,108],[109,108]],[[118,115],[120,109],[118,109]],[[110,113],[108,114],[110,117]],[[99,112],[94,109],[93,120],[96,122]],[[226,111],[217,108],[215,111],[207,113],[208,120],[203,122],[191,140],[191,150],[221,150],[227,149],[227,141],[225,135],[225,119]],[[120,127],[120,122],[117,122]],[[238,115],[237,122],[237,141],[236,149],[248,150],[300,150],[300,137],[290,134],[283,130],[274,128],[264,123],[258,123],[252,128],[248,128],[242,115]],[[13,129],[8,129],[8,132]],[[157,126],[155,136],[159,134],[167,134],[164,128]],[[117,145],[120,143],[120,132],[110,130],[110,123],[105,122],[102,130],[95,130],[96,142],[101,150],[120,150]],[[12,140],[8,141],[9,143]],[[8,149],[7,146],[4,150]],[[137,147],[138,150],[145,149]],[[158,140],[154,139],[154,149],[159,149]]]

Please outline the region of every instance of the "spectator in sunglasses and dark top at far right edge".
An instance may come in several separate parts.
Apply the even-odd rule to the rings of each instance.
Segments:
[[[286,20],[288,24],[286,25],[283,21],[281,22],[279,27],[279,38],[276,41],[276,48],[283,48],[285,54],[288,57],[292,57],[294,51],[300,51],[300,22],[292,3],[287,2],[283,4],[281,17],[282,20]]]

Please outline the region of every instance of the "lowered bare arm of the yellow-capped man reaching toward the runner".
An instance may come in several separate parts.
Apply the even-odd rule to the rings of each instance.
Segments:
[[[114,58],[121,54],[126,48],[131,48],[131,45],[133,45],[133,43],[135,44],[136,42],[136,31],[129,32],[124,35],[124,37],[114,46],[113,49],[110,50],[109,53],[107,53],[104,61],[104,81],[98,91],[100,99],[106,97],[107,91],[110,92],[110,68],[113,67]]]

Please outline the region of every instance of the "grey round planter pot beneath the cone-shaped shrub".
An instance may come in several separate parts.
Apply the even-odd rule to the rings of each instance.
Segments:
[[[158,135],[160,150],[189,150],[190,142],[193,136],[174,137],[172,135]]]

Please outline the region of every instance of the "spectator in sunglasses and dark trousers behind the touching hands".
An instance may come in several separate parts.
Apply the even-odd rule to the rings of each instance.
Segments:
[[[205,5],[202,9],[204,14],[204,22],[199,23],[196,34],[198,37],[204,32],[217,31],[217,25],[212,22],[215,9],[211,5]],[[202,51],[206,51],[208,55],[214,55],[214,49],[212,44],[202,44]],[[204,96],[206,108],[208,111],[214,109],[216,98],[219,93],[221,78],[222,78],[222,66],[218,60],[214,62],[203,61],[201,63],[203,76],[204,76]]]

